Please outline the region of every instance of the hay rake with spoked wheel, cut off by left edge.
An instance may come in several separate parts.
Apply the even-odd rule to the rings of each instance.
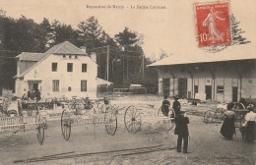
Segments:
[[[25,134],[36,134],[38,142],[43,143],[44,123],[40,115],[0,118],[0,137]]]

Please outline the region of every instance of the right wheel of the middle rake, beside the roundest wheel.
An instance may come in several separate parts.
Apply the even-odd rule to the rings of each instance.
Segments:
[[[117,130],[117,117],[110,107],[106,110],[104,121],[107,134],[113,136]]]

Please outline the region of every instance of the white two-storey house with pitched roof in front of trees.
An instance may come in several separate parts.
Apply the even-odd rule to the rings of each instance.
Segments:
[[[89,56],[68,41],[45,53],[23,52],[17,56],[16,95],[39,89],[42,98],[96,98],[96,74],[96,54]]]

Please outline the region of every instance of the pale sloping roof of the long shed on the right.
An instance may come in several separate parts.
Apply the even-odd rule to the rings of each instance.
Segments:
[[[210,63],[234,60],[256,59],[256,46],[251,44],[232,45],[217,53],[209,53],[196,47],[193,51],[180,50],[149,67],[158,67],[178,64]]]

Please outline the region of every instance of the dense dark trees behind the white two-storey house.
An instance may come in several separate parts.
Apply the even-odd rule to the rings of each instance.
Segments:
[[[95,17],[73,28],[57,20],[50,23],[45,18],[39,24],[24,16],[13,19],[1,10],[0,88],[14,89],[13,77],[17,73],[15,56],[22,52],[45,52],[66,40],[78,47],[85,46],[88,53],[96,52],[99,78],[106,80],[106,56],[109,52],[110,82],[118,87],[127,87],[130,83],[143,83],[155,88],[153,91],[156,91],[157,73],[146,67],[151,61],[144,56],[141,46],[143,39],[136,31],[125,27],[123,31],[110,37],[99,26]]]

